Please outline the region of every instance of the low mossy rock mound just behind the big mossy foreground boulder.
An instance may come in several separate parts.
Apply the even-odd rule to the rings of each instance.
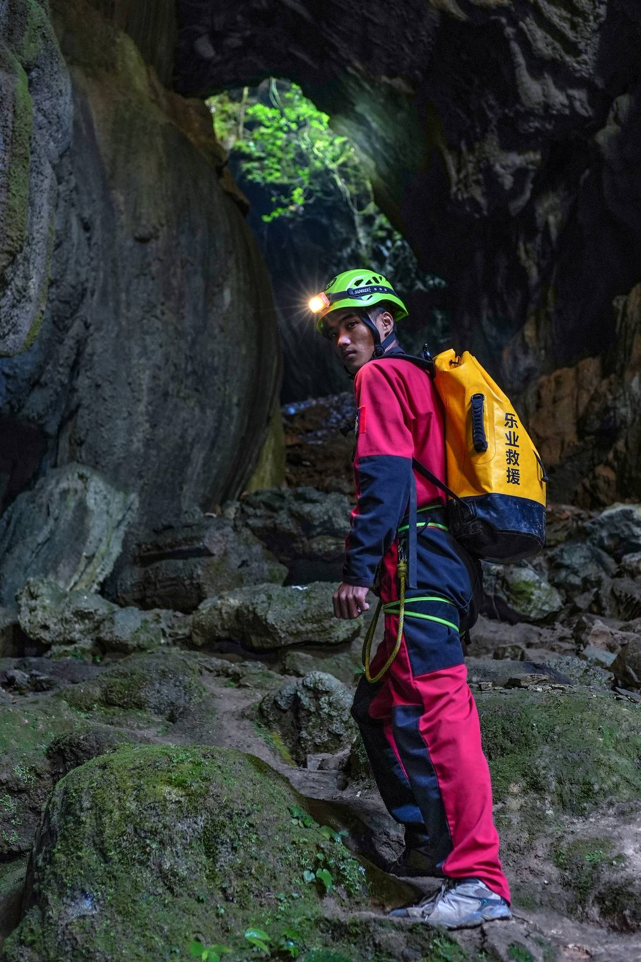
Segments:
[[[159,718],[176,722],[188,707],[201,701],[199,678],[195,658],[158,651],[124,658],[92,681],[65,689],[60,697],[103,721],[134,727],[136,718],[140,723]]]

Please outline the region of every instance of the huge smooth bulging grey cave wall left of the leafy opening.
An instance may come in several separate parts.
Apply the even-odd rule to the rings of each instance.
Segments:
[[[281,366],[269,279],[202,103],[165,89],[95,5],[51,16],[58,72],[37,81],[69,94],[51,118],[67,140],[42,205],[39,336],[0,361],[0,449],[29,435],[30,476],[4,457],[0,495],[80,462],[135,490],[148,526],[238,494],[259,460]]]

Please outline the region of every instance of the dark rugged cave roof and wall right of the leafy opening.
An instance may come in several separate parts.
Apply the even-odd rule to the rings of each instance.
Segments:
[[[299,83],[357,145],[459,348],[511,391],[615,336],[639,280],[641,8],[630,0],[181,4],[177,87]]]

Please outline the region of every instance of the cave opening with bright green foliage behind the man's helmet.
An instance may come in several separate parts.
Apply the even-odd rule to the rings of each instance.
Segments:
[[[419,270],[407,241],[378,207],[355,146],[289,80],[225,90],[207,101],[216,138],[250,202],[248,221],[269,271],[283,342],[282,401],[349,389],[318,338],[308,296],[351,266],[371,266],[407,299],[403,343],[448,345],[447,285]]]

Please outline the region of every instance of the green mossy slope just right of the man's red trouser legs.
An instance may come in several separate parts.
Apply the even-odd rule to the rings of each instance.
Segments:
[[[641,795],[641,709],[588,692],[476,696],[496,801],[518,802],[532,828],[541,811],[584,814]]]

